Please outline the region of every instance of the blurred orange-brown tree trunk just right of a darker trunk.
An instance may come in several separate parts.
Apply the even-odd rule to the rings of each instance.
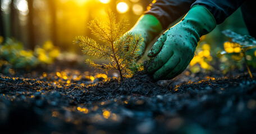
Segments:
[[[53,0],[48,0],[49,8],[50,8],[50,16],[52,20],[52,25],[51,25],[51,38],[53,45],[58,45],[58,37],[57,37],[57,22],[56,22],[56,1]]]

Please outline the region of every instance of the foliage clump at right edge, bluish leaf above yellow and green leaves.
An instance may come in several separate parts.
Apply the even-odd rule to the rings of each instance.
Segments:
[[[252,73],[250,72],[249,66],[256,66],[256,51],[253,49],[256,47],[256,40],[252,36],[243,36],[230,30],[225,30],[222,33],[228,37],[228,41],[224,42],[223,44],[224,51],[220,51],[217,54],[218,58],[225,56],[225,58],[221,59],[221,68],[223,69],[223,73],[232,71],[235,68],[241,68],[245,61],[246,68],[248,69],[248,72],[252,78]],[[242,61],[242,59],[244,59],[244,61]]]

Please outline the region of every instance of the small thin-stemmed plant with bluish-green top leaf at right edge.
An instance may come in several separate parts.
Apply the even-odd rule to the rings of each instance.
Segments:
[[[218,52],[218,57],[221,58],[223,55],[230,55],[232,59],[240,61],[244,58],[246,68],[250,78],[253,78],[253,75],[248,66],[248,62],[245,56],[245,52],[249,49],[256,47],[256,40],[252,36],[240,35],[238,33],[232,32],[230,30],[222,31],[222,33],[229,37],[231,40],[224,43],[225,51]]]

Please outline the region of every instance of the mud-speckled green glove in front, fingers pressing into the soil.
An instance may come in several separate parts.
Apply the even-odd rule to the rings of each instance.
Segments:
[[[193,59],[200,37],[215,27],[216,21],[208,9],[193,6],[179,23],[159,37],[148,52],[149,58],[153,58],[148,73],[156,80],[175,78]]]

